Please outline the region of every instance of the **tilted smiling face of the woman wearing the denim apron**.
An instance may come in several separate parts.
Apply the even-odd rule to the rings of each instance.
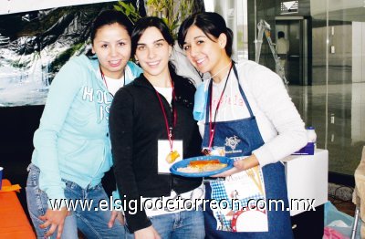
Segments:
[[[206,36],[198,26],[190,26],[184,40],[183,50],[190,62],[200,72],[215,72],[224,67],[227,58],[225,53],[226,36],[218,38]]]

